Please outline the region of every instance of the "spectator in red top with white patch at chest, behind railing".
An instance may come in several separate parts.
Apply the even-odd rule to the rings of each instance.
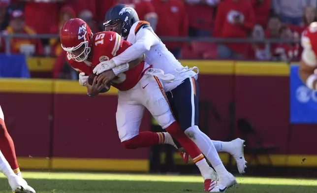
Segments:
[[[222,38],[245,38],[254,28],[254,11],[250,0],[222,0],[218,4],[215,36]],[[227,43],[218,45],[220,58],[242,59],[248,56],[250,45]]]

